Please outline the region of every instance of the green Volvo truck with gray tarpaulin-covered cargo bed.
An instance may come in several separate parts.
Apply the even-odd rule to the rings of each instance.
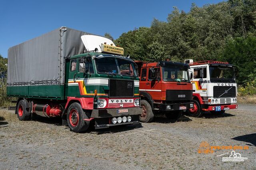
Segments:
[[[7,83],[20,121],[61,117],[74,132],[140,124],[136,64],[102,36],[61,27],[10,47]]]

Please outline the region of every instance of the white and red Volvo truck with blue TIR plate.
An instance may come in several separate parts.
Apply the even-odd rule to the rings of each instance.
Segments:
[[[193,83],[194,109],[190,116],[200,117],[205,111],[223,114],[226,110],[237,109],[237,85],[233,65],[220,61],[185,60],[190,65]]]

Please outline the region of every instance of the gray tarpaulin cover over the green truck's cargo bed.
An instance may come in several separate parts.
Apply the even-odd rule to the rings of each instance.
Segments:
[[[10,47],[8,86],[64,84],[65,58],[84,53],[82,35],[93,35],[61,27]]]

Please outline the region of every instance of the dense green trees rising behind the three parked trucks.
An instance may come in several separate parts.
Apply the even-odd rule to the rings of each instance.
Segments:
[[[185,13],[174,7],[167,22],[153,19],[150,28],[123,33],[116,45],[134,60],[184,59],[228,61],[236,66],[238,83],[256,78],[256,1],[228,0]]]

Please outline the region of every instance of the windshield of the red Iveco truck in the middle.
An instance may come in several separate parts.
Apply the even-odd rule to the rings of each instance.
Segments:
[[[162,67],[164,81],[190,82],[188,69],[184,67]]]

